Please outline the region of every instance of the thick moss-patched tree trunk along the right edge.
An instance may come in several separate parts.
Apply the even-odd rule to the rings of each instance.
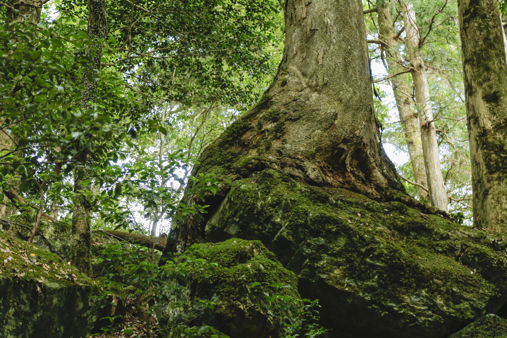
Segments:
[[[507,222],[507,53],[496,0],[458,1],[474,226]]]

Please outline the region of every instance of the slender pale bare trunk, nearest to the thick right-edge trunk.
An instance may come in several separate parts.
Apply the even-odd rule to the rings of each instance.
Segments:
[[[412,79],[414,80],[415,97],[419,124],[421,126],[422,151],[424,164],[426,166],[426,177],[428,182],[429,199],[431,205],[447,211],[448,198],[442,178],[440,167],[439,145],[437,133],[433,122],[433,111],[429,97],[429,85],[426,77],[426,66],[422,58],[422,51],[419,46],[419,29],[416,23],[414,6],[410,2],[404,2],[403,17],[405,20],[405,32],[407,34],[407,49],[412,63]]]

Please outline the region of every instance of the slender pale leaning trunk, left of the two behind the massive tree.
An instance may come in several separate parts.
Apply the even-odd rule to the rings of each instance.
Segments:
[[[393,27],[391,6],[392,3],[390,1],[377,1],[379,40],[384,42],[381,48],[386,53],[386,70],[390,74],[395,74],[405,70],[405,67],[403,66],[403,60],[399,52],[400,43],[396,40],[396,32]],[[406,74],[401,74],[391,78],[390,81],[400,116],[400,123],[407,140],[415,182],[427,186],[426,168],[422,153],[421,128],[417,121],[417,113],[412,102],[412,97],[408,96],[412,86],[407,77]],[[422,187],[417,186],[417,193],[423,199],[428,199],[428,193]]]

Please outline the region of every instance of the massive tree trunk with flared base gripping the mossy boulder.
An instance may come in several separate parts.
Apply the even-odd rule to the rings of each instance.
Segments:
[[[204,241],[205,223],[232,181],[265,168],[375,200],[404,192],[379,139],[361,1],[287,0],[284,13],[285,47],[272,85],[194,168],[194,176],[223,182],[222,192],[206,199],[203,221],[180,224],[169,251]],[[187,205],[202,203],[194,187],[186,189]]]

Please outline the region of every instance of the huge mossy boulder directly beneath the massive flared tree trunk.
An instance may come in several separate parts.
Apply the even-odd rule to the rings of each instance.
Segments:
[[[225,198],[206,203],[196,233],[214,243],[261,240],[296,274],[300,294],[320,299],[330,337],[441,338],[507,301],[500,235],[422,214],[407,200],[312,186],[259,161],[268,162],[199,169],[225,182]]]

